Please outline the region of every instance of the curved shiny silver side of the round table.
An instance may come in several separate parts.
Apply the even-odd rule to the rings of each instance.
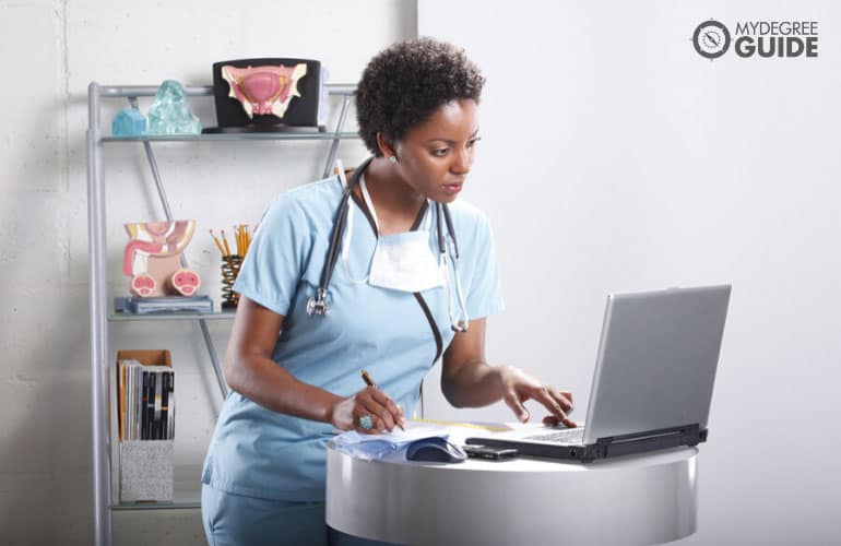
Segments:
[[[647,545],[692,534],[696,448],[590,464],[365,461],[333,449],[327,523],[418,545]]]

